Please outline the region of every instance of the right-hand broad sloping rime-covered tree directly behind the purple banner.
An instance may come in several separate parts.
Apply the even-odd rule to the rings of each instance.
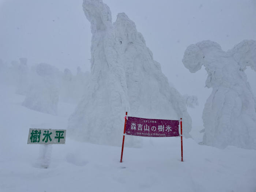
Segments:
[[[170,86],[161,65],[153,59],[143,35],[125,13],[117,15],[115,49],[125,70],[129,115],[146,118],[184,119],[184,135],[190,137],[191,118],[185,99]]]

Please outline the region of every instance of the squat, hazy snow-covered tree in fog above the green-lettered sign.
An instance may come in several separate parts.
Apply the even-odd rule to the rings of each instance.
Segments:
[[[22,105],[39,112],[57,115],[59,69],[41,63],[34,68],[34,81]]]

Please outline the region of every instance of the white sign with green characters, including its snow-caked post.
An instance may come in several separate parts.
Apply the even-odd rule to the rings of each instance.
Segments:
[[[29,137],[27,144],[43,144],[41,147],[40,161],[44,168],[49,167],[50,157],[52,153],[52,145],[65,144],[65,129],[29,129]]]

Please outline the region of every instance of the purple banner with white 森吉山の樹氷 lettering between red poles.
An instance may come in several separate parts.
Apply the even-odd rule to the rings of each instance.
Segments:
[[[125,133],[143,137],[177,137],[180,136],[179,123],[179,120],[127,117]]]

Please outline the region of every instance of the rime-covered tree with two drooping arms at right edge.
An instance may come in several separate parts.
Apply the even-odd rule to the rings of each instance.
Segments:
[[[227,52],[201,41],[188,46],[182,62],[192,73],[204,65],[206,86],[212,87],[203,110],[203,143],[256,149],[256,99],[244,72],[247,66],[256,71],[256,41],[244,40]]]

